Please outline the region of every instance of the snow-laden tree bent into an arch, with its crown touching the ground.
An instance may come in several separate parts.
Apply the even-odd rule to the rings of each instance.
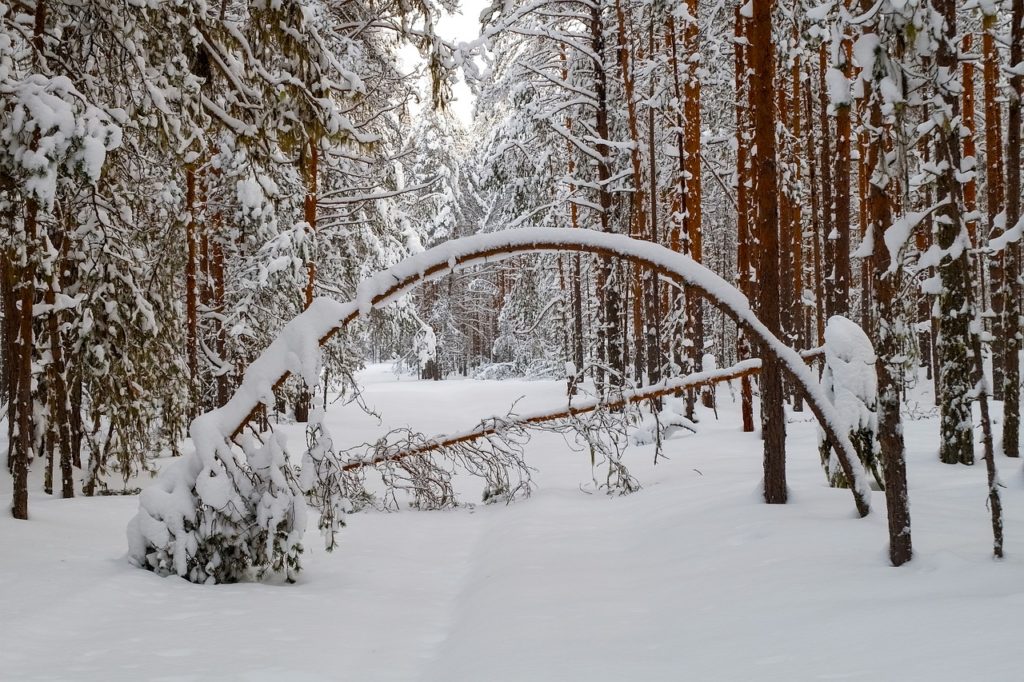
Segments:
[[[257,574],[284,570],[291,579],[299,569],[305,529],[302,494],[272,438],[259,449],[243,443],[245,457],[237,457],[232,440],[252,413],[272,403],[274,387],[290,374],[316,386],[319,345],[360,314],[453,270],[541,251],[627,259],[687,285],[725,311],[764,354],[780,360],[803,390],[837,447],[859,514],[868,513],[870,488],[843,428],[845,421],[800,354],[765,328],[737,289],[691,258],[656,244],[592,230],[524,227],[475,235],[413,255],[364,281],[354,301],[314,300],[246,370],[234,395],[193,422],[193,450],[139,496],[138,513],[127,529],[132,563],[196,583],[237,581],[252,570]]]

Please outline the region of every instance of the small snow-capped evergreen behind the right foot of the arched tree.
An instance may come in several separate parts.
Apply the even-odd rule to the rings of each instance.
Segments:
[[[883,487],[879,470],[878,378],[874,348],[864,330],[842,315],[828,318],[825,326],[825,368],[821,386],[836,407],[841,426],[849,433],[864,468]],[[820,432],[821,465],[833,487],[849,487],[831,444]]]

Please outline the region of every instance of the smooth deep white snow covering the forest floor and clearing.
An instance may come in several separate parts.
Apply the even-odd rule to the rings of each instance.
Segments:
[[[334,409],[332,433],[352,443],[564,399],[561,382],[397,380],[384,366],[362,380],[385,425]],[[633,496],[595,494],[589,455],[540,434],[530,499],[360,513],[333,554],[310,524],[293,586],[158,578],[125,560],[135,498],[34,492],[31,521],[0,515],[0,679],[1024,679],[1020,463],[998,461],[996,562],[984,467],[940,464],[937,419],[908,422],[915,558],[892,568],[882,495],[858,519],[849,492],[825,486],[809,415],[790,424],[791,503],[767,506],[761,443],[719,396],[719,420],[701,413],[669,459],[629,451]]]

